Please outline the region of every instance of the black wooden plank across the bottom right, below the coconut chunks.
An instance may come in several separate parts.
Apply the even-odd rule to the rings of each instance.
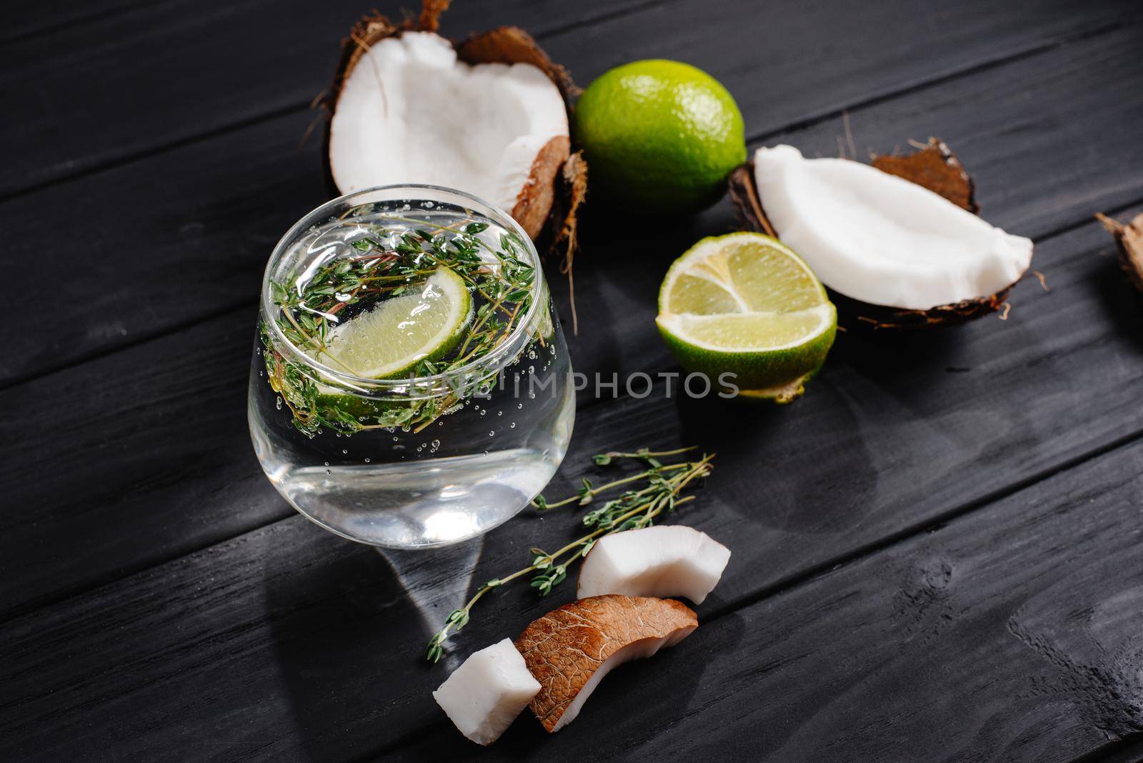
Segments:
[[[1136,443],[807,585],[719,610],[676,651],[606,678],[554,737],[529,718],[485,752],[449,738],[442,721],[391,757],[1113,752],[1143,731],[1141,475]]]

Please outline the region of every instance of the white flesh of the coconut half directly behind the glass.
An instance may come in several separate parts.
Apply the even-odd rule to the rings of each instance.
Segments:
[[[407,31],[371,45],[342,83],[329,168],[342,193],[441,185],[520,218],[517,208],[527,209],[541,175],[551,182],[568,146],[563,99],[539,69],[469,65],[445,38]],[[523,225],[531,236],[542,212]]]

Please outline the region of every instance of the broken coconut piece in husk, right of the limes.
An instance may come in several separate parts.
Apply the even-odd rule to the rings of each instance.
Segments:
[[[858,320],[880,328],[994,312],[1032,259],[1029,239],[974,214],[972,180],[935,138],[872,167],[759,148],[732,175],[730,195],[746,225],[782,239]]]

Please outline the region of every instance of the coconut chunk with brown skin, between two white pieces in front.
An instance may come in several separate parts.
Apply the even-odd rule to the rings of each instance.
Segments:
[[[531,712],[559,731],[616,665],[673,646],[697,627],[695,613],[670,599],[592,596],[552,610],[515,640],[541,684]]]

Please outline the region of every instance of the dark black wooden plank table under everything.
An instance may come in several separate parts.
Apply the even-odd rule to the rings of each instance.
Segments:
[[[583,397],[550,492],[601,448],[698,443],[717,471],[682,519],[734,557],[694,636],[487,752],[433,704],[423,642],[466,560],[514,569],[574,520],[525,512],[398,575],[296,515],[247,433],[262,268],[327,198],[310,102],[371,5],[7,9],[0,757],[1143,758],[1143,308],[1092,218],[1143,209],[1137,0],[448,13],[457,37],[523,26],[581,85],[694,63],[751,147],[836,155],[844,114],[860,154],[941,136],[1049,287],[1007,320],[840,335],[785,408]],[[655,292],[728,202],[584,225],[576,368],[672,370]],[[570,595],[483,602],[453,659]]]

